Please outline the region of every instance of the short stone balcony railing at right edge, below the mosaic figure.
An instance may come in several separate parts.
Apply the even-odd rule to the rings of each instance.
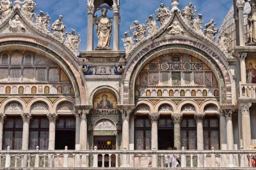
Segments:
[[[256,98],[256,84],[239,84],[240,98]]]

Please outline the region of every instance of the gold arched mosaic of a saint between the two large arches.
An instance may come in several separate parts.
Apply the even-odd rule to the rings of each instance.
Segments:
[[[109,92],[100,93],[95,97],[93,106],[95,109],[115,109],[116,97]]]

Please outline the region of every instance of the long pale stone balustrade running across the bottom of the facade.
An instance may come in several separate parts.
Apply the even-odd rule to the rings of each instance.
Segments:
[[[180,167],[207,167],[216,169],[246,169],[252,165],[248,158],[255,155],[256,151],[245,150],[2,150],[0,151],[0,166],[8,168],[33,167],[51,169],[59,167],[61,169],[90,169],[112,167],[111,169],[164,169],[170,167],[170,161],[165,158],[174,155],[180,160]],[[169,159],[168,159],[169,160]],[[110,164],[109,164],[110,162]],[[104,166],[102,166],[104,165]],[[115,168],[114,168],[115,167]]]

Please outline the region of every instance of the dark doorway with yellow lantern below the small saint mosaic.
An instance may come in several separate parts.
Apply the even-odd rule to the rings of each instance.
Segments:
[[[116,136],[94,136],[94,146],[97,150],[116,150]],[[104,159],[104,165],[103,160]],[[116,156],[111,155],[111,167],[116,166]],[[109,167],[109,155],[98,156],[98,167]]]

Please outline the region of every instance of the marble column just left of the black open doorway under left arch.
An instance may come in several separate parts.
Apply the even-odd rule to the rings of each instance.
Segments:
[[[49,119],[49,150],[55,149],[55,129],[56,129],[56,120],[58,118],[57,113],[48,113],[47,118]],[[64,148],[63,148],[64,149]]]

